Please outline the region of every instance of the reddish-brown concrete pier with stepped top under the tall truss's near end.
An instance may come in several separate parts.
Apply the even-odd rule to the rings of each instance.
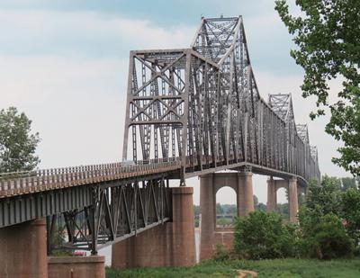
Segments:
[[[196,263],[193,187],[172,188],[171,222],[112,245],[112,267],[191,266]]]

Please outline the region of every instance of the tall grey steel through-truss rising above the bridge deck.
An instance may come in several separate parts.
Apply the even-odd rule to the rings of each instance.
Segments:
[[[239,163],[320,179],[301,132],[290,94],[260,96],[241,16],[202,18],[191,49],[130,53],[123,158],[180,158],[183,180]]]

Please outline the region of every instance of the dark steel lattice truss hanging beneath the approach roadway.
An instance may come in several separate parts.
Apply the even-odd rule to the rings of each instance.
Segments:
[[[164,178],[93,186],[93,202],[48,216],[48,253],[91,250],[161,225],[171,219],[171,188]]]

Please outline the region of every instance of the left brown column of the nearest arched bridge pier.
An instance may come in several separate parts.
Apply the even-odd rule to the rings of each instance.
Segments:
[[[216,225],[214,175],[200,177],[200,211],[202,221],[200,227],[200,261],[211,258],[213,254],[214,232]]]

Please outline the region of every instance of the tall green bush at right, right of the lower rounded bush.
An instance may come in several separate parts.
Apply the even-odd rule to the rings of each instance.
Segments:
[[[342,225],[343,193],[338,178],[324,176],[308,187],[307,201],[299,211],[301,236],[298,247],[303,256],[331,259],[351,256],[353,240]]]

